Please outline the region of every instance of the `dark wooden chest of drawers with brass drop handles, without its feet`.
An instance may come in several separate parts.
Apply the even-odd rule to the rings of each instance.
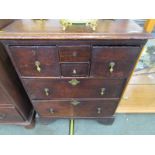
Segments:
[[[1,42],[41,118],[110,118],[150,35],[132,21],[62,30],[59,20],[17,20]]]

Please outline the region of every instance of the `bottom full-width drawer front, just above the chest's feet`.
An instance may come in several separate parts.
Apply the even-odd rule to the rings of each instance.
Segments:
[[[104,117],[115,113],[118,100],[36,101],[33,104],[43,117]]]

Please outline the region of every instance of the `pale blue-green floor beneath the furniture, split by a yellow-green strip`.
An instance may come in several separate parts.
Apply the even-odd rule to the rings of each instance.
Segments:
[[[95,120],[75,120],[75,135],[154,135],[155,114],[117,114],[113,125]],[[48,125],[37,121],[35,128],[0,125],[0,135],[68,135],[69,120],[60,119]]]

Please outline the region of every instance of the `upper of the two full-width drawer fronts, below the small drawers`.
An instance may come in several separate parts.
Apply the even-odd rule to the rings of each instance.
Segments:
[[[119,98],[123,80],[23,79],[33,100],[59,98]]]

